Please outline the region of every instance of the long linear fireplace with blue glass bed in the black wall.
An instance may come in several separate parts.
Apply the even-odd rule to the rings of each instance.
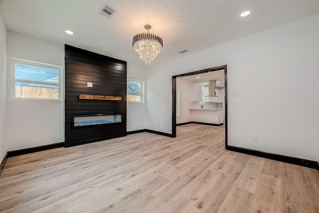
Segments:
[[[71,127],[85,127],[122,123],[122,114],[74,115]]]

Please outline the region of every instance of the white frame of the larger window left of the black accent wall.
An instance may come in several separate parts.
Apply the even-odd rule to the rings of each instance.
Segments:
[[[58,83],[47,83],[41,81],[32,81],[32,80],[21,80],[15,79],[15,63],[21,63],[26,65],[44,67],[44,68],[51,68],[57,69],[59,73],[59,82]],[[12,69],[12,99],[13,100],[41,100],[41,101],[63,101],[63,66],[41,63],[36,61],[24,60],[19,58],[11,58],[11,69]],[[34,84],[44,84],[44,85],[57,85],[58,86],[58,99],[50,99],[50,98],[17,98],[15,97],[15,82],[28,82]]]

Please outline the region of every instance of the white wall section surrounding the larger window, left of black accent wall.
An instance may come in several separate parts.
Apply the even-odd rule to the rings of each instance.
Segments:
[[[8,31],[5,127],[7,150],[63,142],[63,101],[12,100],[11,57],[64,66],[64,46]]]

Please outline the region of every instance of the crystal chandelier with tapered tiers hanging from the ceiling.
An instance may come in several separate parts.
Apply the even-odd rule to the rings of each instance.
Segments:
[[[163,48],[163,40],[160,36],[149,32],[151,25],[144,26],[148,32],[142,32],[133,37],[133,47],[145,63],[150,64],[151,61],[159,54]]]

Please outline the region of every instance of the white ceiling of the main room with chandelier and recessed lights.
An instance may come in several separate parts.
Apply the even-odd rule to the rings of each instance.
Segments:
[[[118,10],[112,19],[98,14],[104,3]],[[0,5],[8,30],[144,67],[319,13],[319,0],[1,0]],[[251,14],[241,17],[245,10]],[[145,24],[164,43],[151,64],[132,47]],[[189,52],[178,53],[184,49]]]

